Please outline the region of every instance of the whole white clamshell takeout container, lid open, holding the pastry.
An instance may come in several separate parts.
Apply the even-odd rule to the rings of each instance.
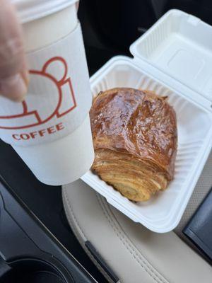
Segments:
[[[175,179],[148,202],[131,202],[91,171],[82,180],[132,220],[165,233],[175,229],[212,147],[212,27],[168,11],[130,50],[90,79],[93,96],[114,87],[143,88],[167,96],[177,113]]]

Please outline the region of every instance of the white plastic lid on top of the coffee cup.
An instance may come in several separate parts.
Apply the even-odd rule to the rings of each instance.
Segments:
[[[34,21],[75,4],[78,0],[11,0],[22,23]]]

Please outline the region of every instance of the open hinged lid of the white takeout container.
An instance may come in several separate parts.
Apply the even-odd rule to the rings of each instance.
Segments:
[[[212,27],[195,16],[170,10],[130,51],[212,102]],[[194,95],[194,92],[193,94]]]

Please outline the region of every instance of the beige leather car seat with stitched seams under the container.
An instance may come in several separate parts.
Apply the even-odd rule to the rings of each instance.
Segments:
[[[210,283],[212,268],[201,258],[182,229],[212,185],[212,154],[199,179],[182,221],[175,231],[153,233],[128,219],[104,197],[78,180],[63,187],[66,216],[81,246],[90,241],[123,283]],[[185,243],[187,242],[187,243]]]

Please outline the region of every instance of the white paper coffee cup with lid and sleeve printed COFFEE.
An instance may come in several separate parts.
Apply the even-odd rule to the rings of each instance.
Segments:
[[[1,139],[13,146],[42,183],[71,183],[89,170],[94,158],[89,119],[92,98],[77,1],[11,1],[23,24],[33,77],[25,104],[1,98]],[[58,91],[58,101],[51,91]],[[4,115],[9,115],[9,120]]]

